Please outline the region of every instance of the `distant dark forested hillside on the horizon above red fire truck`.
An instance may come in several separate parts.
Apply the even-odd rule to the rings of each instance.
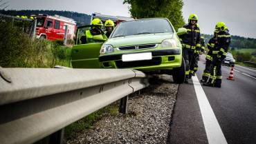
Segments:
[[[77,26],[88,25],[91,21],[91,16],[88,14],[82,14],[78,12],[70,11],[58,11],[58,10],[0,10],[1,14],[8,14],[12,16],[30,16],[31,14],[48,14],[48,15],[60,15],[68,17],[77,21]]]

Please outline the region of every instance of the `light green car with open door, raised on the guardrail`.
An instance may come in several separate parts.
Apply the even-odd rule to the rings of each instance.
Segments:
[[[183,29],[179,31],[184,32]],[[131,68],[149,74],[172,74],[176,83],[183,83],[185,79],[182,45],[168,19],[121,22],[101,48],[99,45],[75,45],[73,68]],[[93,55],[96,49],[100,54]],[[75,57],[76,50],[80,59]]]

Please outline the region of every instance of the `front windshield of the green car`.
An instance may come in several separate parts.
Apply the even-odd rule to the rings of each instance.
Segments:
[[[120,23],[113,31],[113,37],[125,37],[136,34],[173,33],[167,19],[140,19]]]

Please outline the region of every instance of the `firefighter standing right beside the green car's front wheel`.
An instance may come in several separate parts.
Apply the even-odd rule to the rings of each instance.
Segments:
[[[187,29],[187,32],[179,36],[183,45],[183,58],[185,59],[185,83],[188,83],[188,79],[191,78],[194,72],[194,50],[200,47],[200,29],[199,25],[196,24],[197,21],[197,15],[190,14],[188,24],[183,26]]]

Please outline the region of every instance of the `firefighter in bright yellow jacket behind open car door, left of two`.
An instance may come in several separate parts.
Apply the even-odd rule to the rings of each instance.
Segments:
[[[90,30],[86,30],[84,34],[82,34],[80,43],[85,44],[107,41],[107,36],[104,34],[104,32],[101,31],[103,25],[102,21],[98,18],[93,19],[93,21],[91,21],[91,25],[95,26],[92,26]]]

